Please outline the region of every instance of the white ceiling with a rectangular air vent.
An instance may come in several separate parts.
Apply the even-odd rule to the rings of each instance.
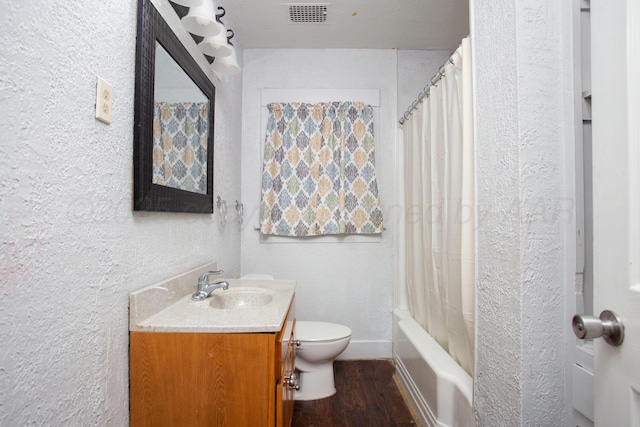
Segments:
[[[468,0],[226,0],[222,21],[243,48],[455,50]],[[216,3],[218,4],[218,3]],[[327,5],[324,23],[291,23],[289,5]]]

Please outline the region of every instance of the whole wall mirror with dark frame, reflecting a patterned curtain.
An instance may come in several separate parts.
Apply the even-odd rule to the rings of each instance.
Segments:
[[[133,209],[213,213],[215,88],[150,0],[138,1]]]

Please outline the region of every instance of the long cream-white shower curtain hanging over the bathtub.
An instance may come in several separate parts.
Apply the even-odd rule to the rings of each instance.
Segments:
[[[406,281],[411,314],[470,374],[475,191],[469,38],[402,125]]]

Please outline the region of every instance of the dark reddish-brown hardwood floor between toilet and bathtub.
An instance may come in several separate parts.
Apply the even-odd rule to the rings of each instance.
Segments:
[[[337,392],[296,401],[292,427],[416,426],[393,380],[391,360],[334,362]]]

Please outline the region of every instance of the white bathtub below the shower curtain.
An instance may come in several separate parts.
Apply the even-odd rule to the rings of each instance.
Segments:
[[[409,404],[424,426],[472,427],[473,380],[411,317],[393,312],[393,358]]]

